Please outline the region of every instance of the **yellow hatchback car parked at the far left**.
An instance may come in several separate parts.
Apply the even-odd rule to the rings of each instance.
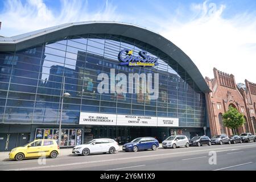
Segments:
[[[16,147],[11,150],[9,159],[23,160],[24,158],[36,158],[42,156],[56,158],[59,154],[60,150],[56,140],[38,139],[23,147]]]

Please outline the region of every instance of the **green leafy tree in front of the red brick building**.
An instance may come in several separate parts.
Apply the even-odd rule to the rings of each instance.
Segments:
[[[236,133],[236,129],[245,123],[245,117],[239,113],[238,110],[232,106],[229,106],[229,110],[222,114],[223,123],[225,127],[232,129],[233,134]]]

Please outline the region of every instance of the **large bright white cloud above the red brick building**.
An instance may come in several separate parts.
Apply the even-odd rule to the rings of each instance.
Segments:
[[[236,82],[256,82],[256,18],[250,14],[222,17],[225,5],[205,1],[192,5],[196,16],[187,23],[172,22],[160,32],[181,48],[203,76],[213,78],[213,67],[233,73]]]

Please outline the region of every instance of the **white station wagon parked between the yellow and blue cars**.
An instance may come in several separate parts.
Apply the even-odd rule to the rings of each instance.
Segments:
[[[89,155],[95,153],[110,153],[115,154],[119,150],[118,143],[113,139],[109,138],[100,138],[93,139],[85,144],[80,144],[73,147],[72,154],[77,155]]]

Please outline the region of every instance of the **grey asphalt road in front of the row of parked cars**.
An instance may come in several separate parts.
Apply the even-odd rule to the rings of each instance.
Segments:
[[[71,154],[58,156],[56,159],[26,159],[20,162],[8,160],[0,162],[0,170],[256,170],[256,143],[158,148],[156,151],[139,152],[119,151],[117,154],[89,156]]]

